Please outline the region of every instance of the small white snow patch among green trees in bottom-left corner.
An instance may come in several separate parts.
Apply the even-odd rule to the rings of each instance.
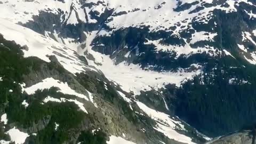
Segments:
[[[6,133],[10,135],[11,141],[14,141],[17,144],[24,143],[25,140],[27,139],[27,137],[29,137],[29,135],[27,133],[21,132],[20,130],[16,129],[15,127],[13,127],[13,129],[10,129]]]

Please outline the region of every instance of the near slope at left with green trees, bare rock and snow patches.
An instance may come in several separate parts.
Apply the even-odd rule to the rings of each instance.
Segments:
[[[67,46],[6,19],[1,34],[2,142],[193,143],[179,119],[136,101]]]

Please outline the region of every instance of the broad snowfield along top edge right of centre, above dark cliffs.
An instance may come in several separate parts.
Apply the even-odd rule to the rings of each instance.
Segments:
[[[89,0],[88,3],[89,2],[95,3],[95,0]],[[199,12],[189,13],[190,11],[196,9],[196,7],[201,6],[202,3],[212,3],[212,1],[198,1],[199,4],[193,5],[190,7],[190,9],[182,12],[175,12],[173,10],[177,7],[178,1],[108,0],[102,2],[102,4],[99,4],[98,6],[94,7],[92,11],[99,11],[101,13],[104,10],[103,4],[107,4],[108,9],[115,9],[114,13],[127,12],[127,14],[111,16],[109,19],[113,20],[108,23],[109,27],[118,29],[121,27],[139,27],[141,25],[146,25],[150,26],[151,30],[164,30],[165,28],[169,28],[169,26],[171,25],[173,26],[183,20],[186,20],[185,22],[181,23],[181,26],[179,26],[177,30],[185,29],[189,26],[188,23],[191,22],[194,18],[197,18],[199,21],[207,23],[207,21],[213,16],[209,16],[207,14],[211,13],[211,11],[213,11],[214,9],[223,10],[229,13],[237,11],[235,5],[238,5],[240,2],[246,2],[250,5],[253,5],[252,3],[244,0],[237,1],[238,4],[235,4],[235,1],[228,0],[226,3],[229,4],[229,7],[221,7],[220,5],[217,5],[215,7],[205,7],[204,10],[201,10]],[[182,2],[190,3],[193,1]],[[157,8],[158,6],[160,6],[159,9]],[[170,15],[173,15],[173,17],[170,17]],[[185,28],[183,28],[182,26],[185,26]]]

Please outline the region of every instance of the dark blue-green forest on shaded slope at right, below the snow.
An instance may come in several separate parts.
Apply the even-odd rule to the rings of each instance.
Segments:
[[[253,124],[256,121],[255,74],[256,68],[241,60],[212,59],[203,74],[175,91],[175,112],[211,137]]]

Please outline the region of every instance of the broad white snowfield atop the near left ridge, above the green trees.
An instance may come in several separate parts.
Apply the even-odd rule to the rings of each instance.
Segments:
[[[10,17],[10,15],[8,15],[8,17]],[[74,50],[69,49],[67,46],[62,45],[49,37],[40,35],[31,29],[17,25],[10,19],[3,19],[0,17],[0,34],[9,41],[15,41],[21,46],[28,47],[28,50],[23,50],[25,57],[38,57],[46,62],[50,62],[47,56],[55,55],[61,65],[73,74],[81,73],[82,71],[85,71],[85,69],[94,70],[87,67],[81,60],[79,60],[78,55]],[[76,47],[73,47],[73,49],[76,49]]]

